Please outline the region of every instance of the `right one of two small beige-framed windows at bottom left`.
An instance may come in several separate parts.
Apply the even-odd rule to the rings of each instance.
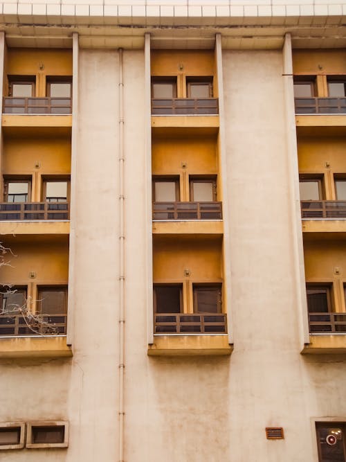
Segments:
[[[67,447],[69,436],[68,422],[28,423],[26,447]]]

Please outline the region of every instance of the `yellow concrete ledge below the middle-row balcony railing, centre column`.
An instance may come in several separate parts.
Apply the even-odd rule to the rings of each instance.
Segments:
[[[167,221],[153,222],[153,234],[222,234],[224,223],[208,221]]]

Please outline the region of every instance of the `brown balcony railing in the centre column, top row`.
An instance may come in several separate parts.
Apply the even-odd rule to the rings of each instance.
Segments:
[[[153,116],[217,115],[218,98],[152,99]]]

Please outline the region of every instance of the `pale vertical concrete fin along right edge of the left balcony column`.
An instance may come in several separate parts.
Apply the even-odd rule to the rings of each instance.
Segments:
[[[78,208],[76,197],[77,136],[78,136],[78,33],[72,35],[72,133],[71,133],[71,193],[70,193],[70,244],[69,244],[69,300],[67,310],[66,344],[73,344],[75,306],[75,224]]]

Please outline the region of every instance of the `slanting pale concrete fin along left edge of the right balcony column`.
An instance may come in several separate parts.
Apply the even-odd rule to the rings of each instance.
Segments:
[[[295,128],[293,93],[293,63],[291,34],[284,36],[283,70],[284,103],[286,107],[286,143],[289,170],[289,202],[291,208],[291,230],[293,236],[293,264],[295,277],[295,302],[298,307],[300,344],[309,344],[307,299],[305,296],[304,251],[302,242],[302,219],[300,217],[300,195],[298,176],[298,148]]]

